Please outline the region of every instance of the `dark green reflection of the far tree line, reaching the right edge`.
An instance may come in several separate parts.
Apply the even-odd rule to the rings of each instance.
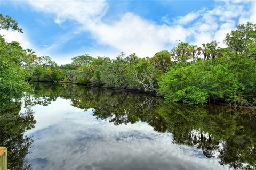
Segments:
[[[47,98],[43,104],[60,96],[74,107],[93,108],[96,118],[115,125],[147,122],[155,131],[172,133],[174,143],[202,149],[208,158],[218,156],[231,168],[256,167],[256,111],[165,103],[146,94],[71,84],[37,84],[35,89],[34,96]]]

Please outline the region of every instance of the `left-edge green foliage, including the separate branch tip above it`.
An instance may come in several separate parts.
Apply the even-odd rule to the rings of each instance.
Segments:
[[[0,15],[0,28],[13,29],[21,32],[17,22],[9,16]],[[0,109],[7,101],[22,96],[29,90],[29,84],[25,82],[30,75],[30,67],[33,63],[28,50],[23,50],[19,43],[7,43],[0,35]]]

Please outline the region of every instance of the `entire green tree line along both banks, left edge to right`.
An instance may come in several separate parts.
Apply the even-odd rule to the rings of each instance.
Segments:
[[[0,25],[22,32],[9,16],[0,15]],[[0,97],[20,97],[31,89],[29,81],[46,81],[147,91],[189,104],[256,104],[256,24],[238,25],[224,42],[226,47],[220,48],[217,41],[200,46],[179,41],[170,51],[146,58],[85,54],[58,66],[49,56],[38,57],[0,36]]]

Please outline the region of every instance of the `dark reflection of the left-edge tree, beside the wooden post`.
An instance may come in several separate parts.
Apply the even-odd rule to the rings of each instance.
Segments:
[[[31,169],[24,162],[28,149],[33,145],[33,139],[25,135],[34,128],[36,121],[30,107],[20,113],[21,103],[11,103],[0,111],[0,145],[8,149],[8,169]]]

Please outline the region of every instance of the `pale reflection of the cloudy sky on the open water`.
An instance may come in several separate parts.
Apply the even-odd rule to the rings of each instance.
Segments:
[[[115,126],[69,104],[58,98],[33,108],[39,124],[29,132],[35,146],[26,159],[34,169],[223,168],[202,151],[172,144],[170,133],[157,133],[147,123]]]

